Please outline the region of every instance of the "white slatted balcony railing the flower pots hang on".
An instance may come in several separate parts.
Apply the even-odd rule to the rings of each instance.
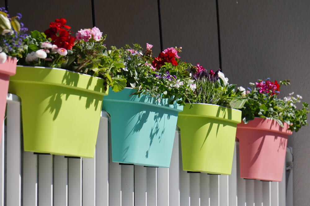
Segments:
[[[8,95],[7,126],[0,145],[0,206],[285,206],[282,182],[239,177],[238,144],[231,175],[182,170],[179,131],[170,168],[119,165],[109,161],[109,120],[102,112],[92,159],[24,152],[20,100]]]

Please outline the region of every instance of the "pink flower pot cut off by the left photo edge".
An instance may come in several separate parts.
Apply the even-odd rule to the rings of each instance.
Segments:
[[[9,78],[16,72],[16,58],[7,57],[7,61],[0,64],[0,141],[2,137],[2,124],[7,106],[7,90],[9,87]]]

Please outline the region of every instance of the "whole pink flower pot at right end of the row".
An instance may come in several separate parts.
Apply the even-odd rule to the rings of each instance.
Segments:
[[[237,124],[240,177],[265,181],[282,180],[287,138],[292,132],[275,120],[255,117]]]

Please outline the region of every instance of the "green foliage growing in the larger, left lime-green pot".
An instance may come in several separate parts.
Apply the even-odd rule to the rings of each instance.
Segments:
[[[103,36],[99,41],[94,39],[88,42],[76,41],[72,50],[66,50],[67,55],[61,55],[53,45],[52,48],[44,48],[47,53],[46,58],[38,58],[35,56],[36,51],[42,49],[42,43],[51,43],[51,39],[47,39],[44,33],[33,31],[25,40],[28,45],[27,56],[21,58],[18,64],[61,68],[89,74],[105,79],[105,90],[108,89],[108,85],[111,85],[114,91],[120,91],[126,86],[126,79],[116,73],[121,71],[124,64],[119,57],[119,50],[107,50],[104,46],[105,37]]]

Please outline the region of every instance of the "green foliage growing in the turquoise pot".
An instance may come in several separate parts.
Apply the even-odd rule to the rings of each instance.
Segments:
[[[120,51],[125,67],[119,74],[127,79],[127,87],[137,89],[133,95],[150,95],[159,102],[169,99],[169,104],[176,101],[179,105],[195,101],[196,96],[190,88],[193,80],[186,71],[191,64],[181,61],[176,66],[165,63],[156,70],[152,69],[153,58],[143,56],[139,44],[134,44],[133,48],[126,45]]]

